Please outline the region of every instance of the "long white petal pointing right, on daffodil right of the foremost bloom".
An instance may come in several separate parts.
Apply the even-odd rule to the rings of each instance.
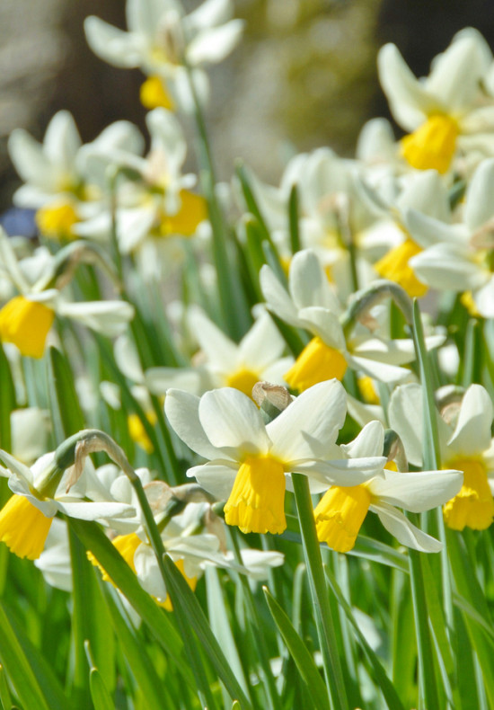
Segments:
[[[405,510],[421,513],[450,501],[463,485],[459,471],[420,471],[397,474],[384,471],[385,478],[375,479],[369,488],[379,502],[398,505]]]

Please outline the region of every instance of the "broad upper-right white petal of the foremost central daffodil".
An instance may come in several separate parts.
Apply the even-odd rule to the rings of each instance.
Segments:
[[[272,455],[286,462],[324,457],[331,451],[346,413],[347,395],[338,380],[310,387],[269,422]]]

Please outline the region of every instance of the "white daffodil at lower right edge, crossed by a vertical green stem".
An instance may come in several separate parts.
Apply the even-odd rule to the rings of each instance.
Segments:
[[[398,387],[389,407],[390,423],[400,435],[410,463],[422,461],[423,409],[419,385]],[[471,385],[463,395],[457,413],[448,421],[437,413],[440,455],[443,466],[463,471],[461,491],[446,502],[445,522],[463,530],[489,528],[494,519],[494,440],[490,426],[493,406],[481,385]]]

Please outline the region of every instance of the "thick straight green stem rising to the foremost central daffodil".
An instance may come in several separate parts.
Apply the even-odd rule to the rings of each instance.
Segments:
[[[321,550],[313,518],[313,503],[309,490],[309,481],[305,475],[301,474],[292,474],[292,481],[300,520],[305,564],[313,598],[317,635],[321,645],[326,686],[331,706],[338,708],[338,710],[348,710],[348,698],[343,682],[343,672],[331,617],[328,587],[324,578]]]

